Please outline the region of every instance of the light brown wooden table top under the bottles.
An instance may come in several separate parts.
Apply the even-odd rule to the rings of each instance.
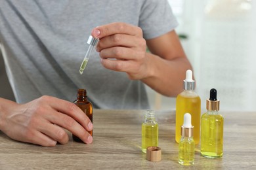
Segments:
[[[160,127],[159,162],[146,160],[140,151],[144,110],[95,110],[93,144],[58,144],[43,147],[12,141],[0,132],[0,169],[256,169],[256,112],[222,112],[223,158],[200,156],[195,164],[178,163],[175,112],[156,112]]]

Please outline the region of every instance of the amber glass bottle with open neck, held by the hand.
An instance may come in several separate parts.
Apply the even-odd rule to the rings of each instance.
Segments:
[[[87,93],[85,89],[78,89],[77,90],[77,99],[74,101],[75,105],[79,107],[85,114],[88,116],[88,118],[93,122],[93,105],[90,101],[87,100]],[[88,131],[91,135],[93,135],[93,131]],[[74,141],[77,142],[83,142],[79,137],[72,134],[72,137]]]

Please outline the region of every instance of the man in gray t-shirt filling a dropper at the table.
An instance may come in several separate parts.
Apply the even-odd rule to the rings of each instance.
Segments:
[[[0,99],[1,131],[54,146],[68,142],[68,129],[92,143],[93,124],[70,102],[77,88],[98,109],[148,109],[144,84],[176,96],[191,69],[176,26],[167,1],[0,0],[1,51],[17,101]],[[100,41],[80,75],[90,34]]]

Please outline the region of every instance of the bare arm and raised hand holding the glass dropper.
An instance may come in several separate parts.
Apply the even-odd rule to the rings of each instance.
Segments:
[[[117,22],[95,27],[91,35],[100,39],[96,50],[107,69],[125,72],[162,95],[182,92],[184,75],[192,67],[175,30],[145,40],[140,27]]]

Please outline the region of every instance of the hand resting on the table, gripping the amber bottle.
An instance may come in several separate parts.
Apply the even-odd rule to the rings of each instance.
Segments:
[[[64,129],[68,129],[84,143],[93,142],[87,132],[93,124],[74,103],[51,96],[25,104],[0,98],[0,103],[0,129],[14,140],[42,146],[65,144],[68,134]]]

